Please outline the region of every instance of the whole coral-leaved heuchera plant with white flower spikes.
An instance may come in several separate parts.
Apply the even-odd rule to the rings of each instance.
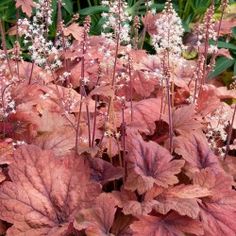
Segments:
[[[235,83],[208,83],[223,18],[212,4],[186,60],[171,1],[141,21],[102,4],[100,36],[60,0],[54,41],[50,0],[16,0],[11,50],[0,22],[0,233],[235,236]]]

